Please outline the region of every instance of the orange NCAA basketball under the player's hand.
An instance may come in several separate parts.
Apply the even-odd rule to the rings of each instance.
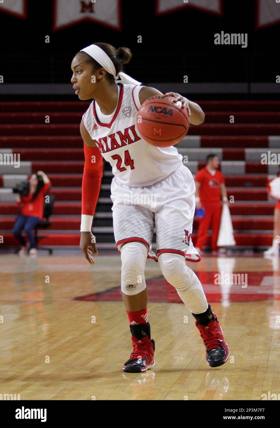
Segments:
[[[175,103],[175,99],[154,95],[144,101],[138,110],[138,131],[152,146],[175,146],[189,130],[189,113],[182,107],[181,101]]]

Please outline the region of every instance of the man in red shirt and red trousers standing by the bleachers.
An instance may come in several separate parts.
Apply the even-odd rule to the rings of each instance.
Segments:
[[[218,250],[217,240],[221,220],[221,196],[227,202],[227,189],[224,184],[224,175],[218,170],[219,158],[217,155],[208,155],[206,167],[200,169],[195,176],[196,208],[205,209],[205,216],[200,218],[198,237],[195,248],[201,253],[207,239],[209,226],[212,225],[212,251]]]

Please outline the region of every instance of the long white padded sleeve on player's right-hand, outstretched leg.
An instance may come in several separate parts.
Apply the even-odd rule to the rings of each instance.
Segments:
[[[205,312],[208,303],[203,287],[195,272],[186,265],[185,256],[162,253],[158,260],[162,275],[176,288],[187,308],[195,314]]]

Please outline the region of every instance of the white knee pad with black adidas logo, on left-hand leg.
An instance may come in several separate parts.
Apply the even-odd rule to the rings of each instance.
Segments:
[[[133,296],[146,288],[145,265],[147,247],[133,241],[121,247],[121,291]]]

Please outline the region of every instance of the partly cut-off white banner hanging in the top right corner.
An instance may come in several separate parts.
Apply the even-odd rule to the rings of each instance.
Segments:
[[[257,0],[256,29],[270,27],[280,22],[280,3],[276,0]]]

